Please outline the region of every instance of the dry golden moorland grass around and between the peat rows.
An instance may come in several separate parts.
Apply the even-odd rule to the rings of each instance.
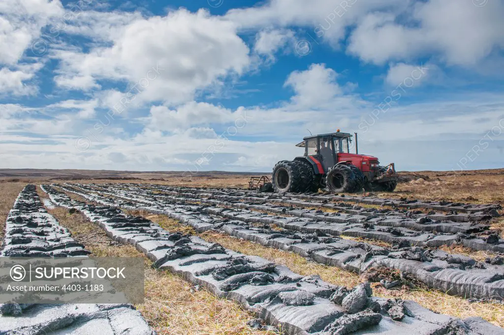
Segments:
[[[152,183],[170,186],[246,188],[250,176],[258,174],[205,172],[187,176],[180,172],[115,172],[85,170],[0,170],[0,238],[3,238],[5,220],[19,192],[27,183]],[[261,175],[261,174],[259,174]],[[504,206],[504,169],[464,172],[401,172],[401,183],[393,193],[377,193],[388,198],[448,200],[470,203],[498,203]],[[39,191],[41,197],[47,197]],[[76,197],[73,195],[72,197]],[[81,201],[83,199],[80,199]],[[80,213],[69,213],[62,208],[49,209],[61,225],[72,232],[94,256],[138,256],[137,250],[127,245],[117,245]],[[192,228],[165,215],[132,212],[159,223],[170,231],[197,234]],[[501,214],[504,214],[501,212]],[[492,228],[504,231],[504,219],[496,218]],[[248,255],[261,256],[289,267],[303,275],[318,274],[335,285],[355,285],[362,278],[335,267],[324,266],[306,260],[293,253],[284,252],[240,240],[219,232],[206,232],[201,237],[218,242],[227,248]],[[504,233],[502,233],[504,237]],[[372,242],[372,241],[368,241]],[[482,259],[486,255],[472,252],[460,246],[444,248],[450,253],[462,253]],[[139,254],[140,255],[140,254]],[[273,334],[247,326],[253,318],[238,304],[218,299],[204,290],[195,290],[181,278],[167,272],[151,269],[146,260],[146,302],[137,306],[149,323],[160,333],[216,333],[216,334]],[[504,305],[500,303],[469,303],[459,297],[424,287],[387,290],[375,287],[375,295],[411,299],[436,312],[458,317],[481,316],[504,326]]]

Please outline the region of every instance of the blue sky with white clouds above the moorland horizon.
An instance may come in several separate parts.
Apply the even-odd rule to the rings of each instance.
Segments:
[[[0,4],[0,167],[271,171],[359,133],[398,170],[503,167],[504,1]]]

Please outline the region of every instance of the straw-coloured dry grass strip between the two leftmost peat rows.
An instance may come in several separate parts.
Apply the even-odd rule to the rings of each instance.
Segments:
[[[113,242],[105,231],[76,212],[49,210],[73,237],[96,257],[144,257],[134,246]],[[166,227],[170,227],[166,220]],[[174,231],[175,229],[171,229]],[[183,227],[179,231],[183,231]],[[219,334],[274,335],[274,331],[253,330],[246,322],[254,315],[238,303],[218,298],[194,287],[177,275],[151,268],[145,258],[145,303],[136,305],[144,318],[160,335]]]

